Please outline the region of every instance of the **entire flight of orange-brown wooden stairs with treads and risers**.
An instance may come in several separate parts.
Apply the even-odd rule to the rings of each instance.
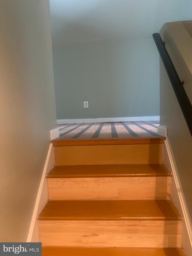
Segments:
[[[53,141],[42,255],[183,256],[164,138]]]

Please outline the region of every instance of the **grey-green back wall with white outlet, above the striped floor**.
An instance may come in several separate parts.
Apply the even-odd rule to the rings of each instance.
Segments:
[[[64,45],[53,49],[53,69],[57,119],[159,116],[153,39]]]

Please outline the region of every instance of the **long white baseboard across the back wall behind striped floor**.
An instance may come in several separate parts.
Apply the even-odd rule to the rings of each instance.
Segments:
[[[57,124],[82,124],[82,123],[106,123],[106,122],[139,122],[159,121],[159,116],[132,116],[132,117],[108,117],[108,118],[85,118],[85,119],[57,119]]]

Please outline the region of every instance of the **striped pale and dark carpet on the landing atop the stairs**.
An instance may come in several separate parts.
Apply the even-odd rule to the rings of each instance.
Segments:
[[[159,121],[58,125],[62,139],[159,137]]]

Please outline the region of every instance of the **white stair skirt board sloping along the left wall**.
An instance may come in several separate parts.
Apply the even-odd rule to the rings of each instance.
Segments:
[[[26,242],[39,242],[39,232],[38,232],[38,220],[37,217],[48,200],[48,190],[46,182],[46,174],[54,167],[54,151],[53,144],[49,146],[49,151],[47,154],[46,162],[44,165],[43,174],[41,177],[41,182],[39,185],[38,194],[35,201],[35,207],[33,210],[33,215],[31,219],[31,224],[29,227],[29,233]]]

